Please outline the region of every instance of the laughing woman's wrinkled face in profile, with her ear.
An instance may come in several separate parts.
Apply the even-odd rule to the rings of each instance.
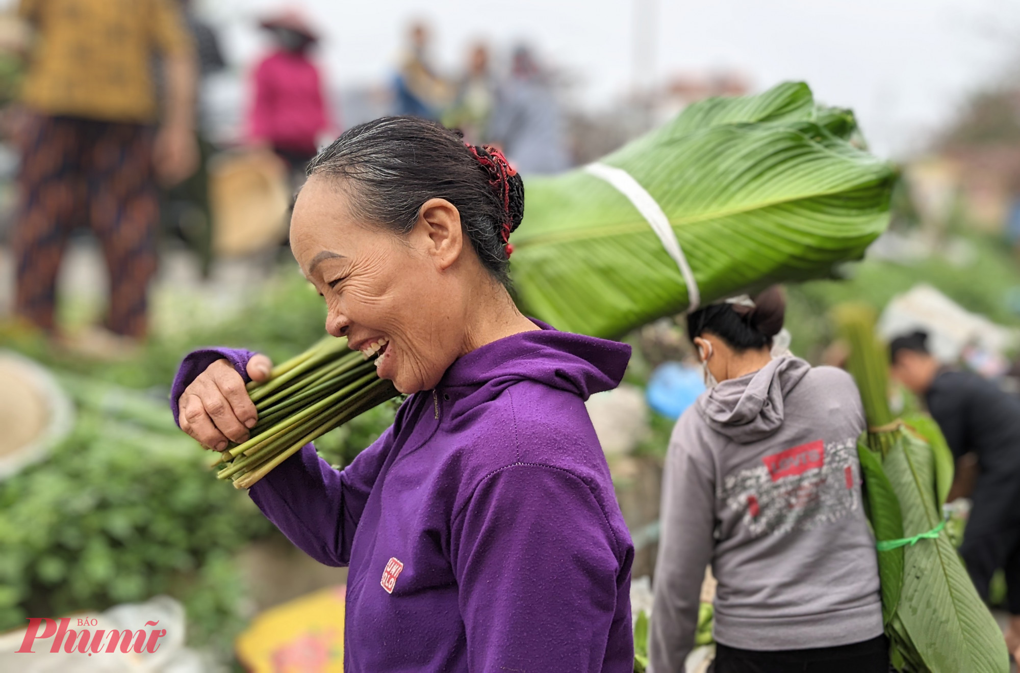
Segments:
[[[463,241],[457,209],[424,204],[407,236],[359,220],[336,178],[313,175],[291,219],[291,248],[325,299],[326,331],[379,353],[378,374],[404,394],[429,390],[461,355],[463,291],[453,270]]]

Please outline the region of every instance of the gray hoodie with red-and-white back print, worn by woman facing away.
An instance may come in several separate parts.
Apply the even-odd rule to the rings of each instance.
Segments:
[[[864,429],[850,375],[794,357],[719,383],[683,413],[663,484],[654,673],[682,673],[709,563],[719,642],[806,650],[881,634],[857,460]]]

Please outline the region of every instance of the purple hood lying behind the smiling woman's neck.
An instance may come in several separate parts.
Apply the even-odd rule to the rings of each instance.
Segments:
[[[495,398],[517,381],[533,380],[588,400],[619,385],[630,360],[629,346],[532,322],[541,329],[495,341],[458,359],[438,387],[480,387],[484,397]]]

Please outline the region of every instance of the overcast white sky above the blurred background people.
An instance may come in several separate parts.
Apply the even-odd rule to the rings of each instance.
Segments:
[[[408,21],[422,17],[440,66],[458,67],[479,38],[504,52],[526,41],[592,106],[628,90],[636,2],[657,5],[658,76],[735,68],[756,90],[804,80],[820,100],[854,108],[884,155],[923,147],[967,94],[1020,61],[1015,0],[197,0],[241,67],[261,50],[255,18],[296,5],[323,34],[334,87],[381,83]]]

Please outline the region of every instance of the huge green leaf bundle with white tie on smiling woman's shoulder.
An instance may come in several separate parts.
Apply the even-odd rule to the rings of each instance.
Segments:
[[[692,105],[602,163],[658,202],[705,303],[863,254],[887,223],[895,171],[857,138],[851,112],[782,84]],[[511,267],[526,313],[617,336],[687,307],[676,263],[614,187],[582,169],[525,187]]]

